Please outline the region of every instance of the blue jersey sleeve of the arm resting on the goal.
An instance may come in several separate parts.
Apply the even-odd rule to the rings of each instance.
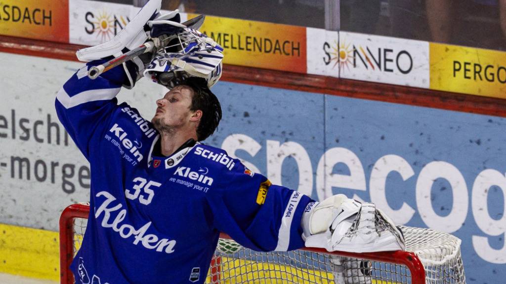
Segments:
[[[212,203],[215,226],[244,247],[257,251],[289,251],[304,247],[302,214],[308,196],[274,185],[239,160],[225,170],[221,195]]]

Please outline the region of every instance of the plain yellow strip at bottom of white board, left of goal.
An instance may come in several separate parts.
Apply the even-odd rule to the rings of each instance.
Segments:
[[[58,232],[0,224],[0,272],[60,279]]]

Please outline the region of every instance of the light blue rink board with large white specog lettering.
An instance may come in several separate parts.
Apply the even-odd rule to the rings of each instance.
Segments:
[[[314,199],[344,193],[451,232],[468,283],[503,282],[506,119],[228,82],[213,91],[224,118],[207,143]]]

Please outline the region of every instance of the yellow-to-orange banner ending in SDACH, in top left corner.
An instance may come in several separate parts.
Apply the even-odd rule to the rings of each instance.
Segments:
[[[0,34],[68,42],[67,0],[3,0]]]

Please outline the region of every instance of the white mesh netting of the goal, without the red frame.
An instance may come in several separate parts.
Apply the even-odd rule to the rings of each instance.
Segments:
[[[414,252],[425,268],[428,284],[465,283],[460,240],[432,229],[401,226],[406,251]],[[74,254],[86,230],[86,219],[73,226]],[[393,260],[392,260],[393,261]],[[296,250],[257,252],[233,240],[220,239],[206,283],[415,283],[405,265]]]

